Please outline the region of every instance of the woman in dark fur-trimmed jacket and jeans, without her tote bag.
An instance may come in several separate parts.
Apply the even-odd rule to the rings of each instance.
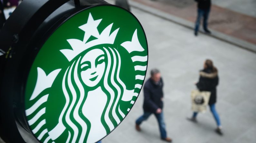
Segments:
[[[210,91],[211,92],[211,96],[210,96],[208,104],[210,106],[213,117],[217,123],[217,128],[215,131],[219,135],[223,135],[220,118],[215,109],[215,103],[216,103],[216,99],[217,99],[216,87],[219,83],[218,70],[216,67],[213,66],[212,60],[205,60],[204,69],[201,70],[199,74],[200,74],[199,82],[196,83],[196,86],[197,86],[198,90],[200,90],[200,91]],[[196,120],[197,114],[198,113],[194,112],[192,117],[187,118],[187,119],[189,121],[197,123],[197,120]]]

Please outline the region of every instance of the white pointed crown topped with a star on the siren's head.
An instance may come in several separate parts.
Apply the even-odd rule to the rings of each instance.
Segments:
[[[99,44],[114,44],[119,28],[110,34],[113,23],[107,26],[100,34],[97,29],[102,19],[93,20],[91,13],[89,14],[87,23],[80,26],[79,28],[85,32],[83,41],[79,39],[67,39],[68,43],[71,45],[72,49],[62,49],[60,50],[62,54],[71,61],[78,54],[85,51],[86,49],[99,45]],[[94,36],[98,39],[88,41],[90,36]],[[86,43],[87,42],[87,43]]]

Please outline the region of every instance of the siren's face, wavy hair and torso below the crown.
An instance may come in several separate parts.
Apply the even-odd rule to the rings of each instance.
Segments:
[[[122,120],[124,113],[119,108],[119,100],[123,92],[129,91],[119,78],[120,64],[116,49],[102,47],[92,48],[67,68],[62,88],[66,107],[70,108],[64,108],[60,118],[66,120],[69,125],[66,128],[74,132],[72,139],[82,141],[88,133],[87,142],[98,141],[97,137],[107,135],[114,129],[114,123],[119,124]],[[78,93],[75,87],[79,89]],[[69,119],[70,116],[81,125],[81,131]]]

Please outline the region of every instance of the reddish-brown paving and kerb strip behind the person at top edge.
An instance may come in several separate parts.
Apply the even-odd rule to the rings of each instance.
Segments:
[[[223,4],[224,2],[216,3]],[[157,16],[194,28],[197,5],[193,0],[131,0],[130,4]],[[251,5],[256,6],[255,2]],[[226,7],[228,7],[227,4]],[[254,12],[255,10],[251,9],[251,11]],[[166,14],[171,16],[166,17]],[[256,52],[256,17],[213,4],[209,18],[209,28],[213,30],[212,36]]]

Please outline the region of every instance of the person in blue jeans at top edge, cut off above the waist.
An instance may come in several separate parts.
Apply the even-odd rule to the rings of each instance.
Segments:
[[[197,2],[197,19],[195,21],[194,35],[197,36],[201,18],[204,17],[203,27],[206,34],[211,34],[207,28],[208,17],[211,9],[211,0],[195,0]]]

